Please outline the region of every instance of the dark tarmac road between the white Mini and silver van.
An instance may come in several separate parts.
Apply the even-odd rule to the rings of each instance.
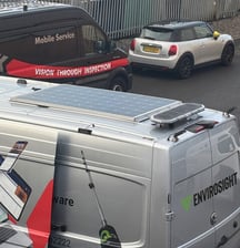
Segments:
[[[172,73],[143,71],[133,74],[133,93],[183,102],[198,102],[206,107],[226,111],[232,106],[240,121],[240,55],[231,66],[212,65],[198,69],[188,80],[177,80]],[[240,123],[240,122],[239,122]]]

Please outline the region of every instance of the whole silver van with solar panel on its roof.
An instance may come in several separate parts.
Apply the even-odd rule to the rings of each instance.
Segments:
[[[3,76],[0,92],[0,247],[240,247],[234,116]]]

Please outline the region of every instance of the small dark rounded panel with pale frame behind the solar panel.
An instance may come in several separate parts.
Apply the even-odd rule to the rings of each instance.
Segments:
[[[198,103],[181,103],[177,106],[161,111],[151,115],[150,120],[156,124],[172,125],[177,122],[188,120],[190,116],[198,114],[204,110],[204,105]]]

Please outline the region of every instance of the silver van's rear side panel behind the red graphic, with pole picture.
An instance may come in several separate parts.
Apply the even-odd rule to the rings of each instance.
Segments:
[[[84,134],[69,136],[68,132],[59,134],[54,176],[58,187],[54,188],[52,224],[57,224],[59,216],[62,216],[61,223],[67,231],[53,231],[52,245],[56,245],[54,238],[60,235],[73,246],[78,240],[71,234],[81,234],[88,240],[83,247],[99,247],[101,213],[96,204],[96,196],[89,188],[91,182],[82,162],[83,151],[106,219],[116,228],[121,244],[129,247],[149,246],[149,162],[152,147],[151,143],[147,143],[149,142],[146,145],[134,141],[123,142],[111,138],[110,135],[98,137]],[[61,175],[66,176],[62,178]],[[59,197],[71,199],[71,206],[62,206]],[[112,203],[116,204],[114,208]]]

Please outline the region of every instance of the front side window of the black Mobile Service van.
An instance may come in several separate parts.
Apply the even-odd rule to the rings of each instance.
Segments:
[[[106,37],[100,29],[94,25],[82,25],[82,39],[84,55],[103,53],[106,50]]]

